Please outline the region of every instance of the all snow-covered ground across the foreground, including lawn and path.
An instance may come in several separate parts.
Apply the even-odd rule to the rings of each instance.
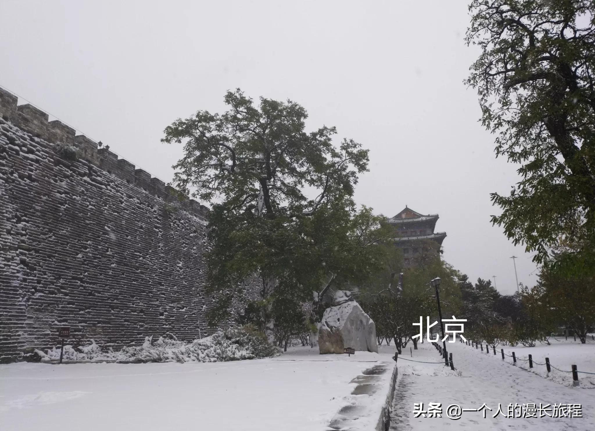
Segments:
[[[595,344],[554,343],[514,351],[522,358],[531,352],[538,362],[547,353],[560,369],[576,363],[579,370],[593,370]],[[393,430],[595,429],[595,389],[589,389],[593,386],[584,375],[574,388],[569,376],[546,379],[512,366],[511,358],[502,361],[499,354],[482,354],[459,343],[447,344],[455,361],[452,371],[436,363],[440,356],[427,342],[411,353],[410,346],[399,358]],[[7,364],[0,366],[0,429],[323,431],[331,429],[328,425],[341,411],[353,407],[359,419],[346,421],[348,429],[356,424],[357,429],[373,430],[386,401],[390,371],[379,377],[383,389],[371,395],[359,394],[357,383],[363,382],[364,370],[376,365],[390,370],[393,354],[393,346],[381,346],[380,354],[357,352],[352,357],[299,347],[275,358],[225,363]],[[430,402],[441,403],[442,417],[415,417],[414,403],[423,403],[427,411]],[[484,403],[492,409],[485,419],[481,411],[463,411],[459,420],[447,417],[450,404],[477,409]],[[499,404],[508,416],[509,405],[528,403],[549,404],[549,413],[493,417]],[[583,417],[550,417],[555,404],[581,404]],[[517,407],[517,416],[522,416],[518,413]]]

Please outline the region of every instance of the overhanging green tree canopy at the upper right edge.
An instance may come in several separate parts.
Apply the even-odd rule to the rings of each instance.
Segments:
[[[466,42],[481,48],[466,84],[496,155],[521,167],[492,216],[515,244],[546,262],[560,239],[572,270],[595,268],[595,3],[474,0]],[[583,265],[588,262],[588,265]]]

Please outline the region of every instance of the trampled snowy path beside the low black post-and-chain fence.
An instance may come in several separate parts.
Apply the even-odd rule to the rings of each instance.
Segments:
[[[409,346],[408,346],[409,347]],[[399,380],[393,402],[391,430],[577,430],[595,429],[595,389],[573,388],[544,379],[502,361],[501,356],[481,351],[458,342],[448,344],[453,353],[456,372],[440,364],[421,364],[399,360]],[[405,358],[409,358],[406,355]],[[437,351],[427,342],[414,351],[414,360],[440,360]],[[571,382],[569,382],[571,384]],[[440,402],[441,418],[414,417],[414,402]],[[459,420],[449,419],[446,408],[458,404],[461,408],[480,408],[486,404],[492,411],[463,411]],[[568,417],[493,417],[502,406],[508,415],[508,405],[518,403],[582,404],[582,418]],[[550,413],[552,414],[552,413]],[[537,415],[538,416],[538,415]]]

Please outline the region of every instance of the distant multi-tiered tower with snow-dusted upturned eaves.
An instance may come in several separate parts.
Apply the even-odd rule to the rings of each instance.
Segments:
[[[446,232],[434,233],[438,219],[437,214],[423,215],[407,206],[389,219],[396,228],[395,245],[403,250],[406,268],[418,266],[423,259],[440,253]]]

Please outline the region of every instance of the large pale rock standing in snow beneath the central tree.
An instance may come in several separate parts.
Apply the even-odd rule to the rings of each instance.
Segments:
[[[320,354],[345,353],[346,347],[378,353],[374,320],[355,301],[344,302],[346,297],[350,297],[346,291],[339,292],[337,294],[341,298],[336,298],[334,303],[340,305],[326,309],[322,316],[318,330]]]

